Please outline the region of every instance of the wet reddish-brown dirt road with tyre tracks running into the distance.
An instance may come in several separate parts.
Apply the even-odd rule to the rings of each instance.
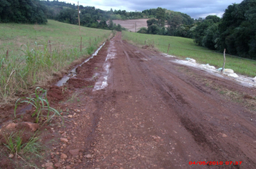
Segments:
[[[68,81],[70,97],[59,103],[65,127],[54,128],[67,140],[52,144],[55,167],[256,168],[255,112],[214,87],[245,101],[255,88],[174,64],[121,36]]]

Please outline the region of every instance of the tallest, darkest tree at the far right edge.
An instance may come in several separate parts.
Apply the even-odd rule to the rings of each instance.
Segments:
[[[219,50],[256,59],[256,0],[229,5],[219,24]]]

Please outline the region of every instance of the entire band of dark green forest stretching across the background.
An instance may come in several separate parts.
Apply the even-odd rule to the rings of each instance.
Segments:
[[[228,54],[256,59],[256,0],[244,0],[227,6],[222,18],[191,16],[168,9],[145,11],[104,11],[93,6],[79,6],[81,26],[122,31],[114,19],[149,19],[147,28],[138,33],[187,37],[202,47]],[[78,24],[77,4],[60,1],[1,0],[0,23],[46,24],[55,19],[68,24]],[[107,24],[106,21],[109,21]]]

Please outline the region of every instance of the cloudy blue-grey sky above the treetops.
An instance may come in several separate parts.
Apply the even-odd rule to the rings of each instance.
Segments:
[[[77,4],[74,0],[59,0],[71,4]],[[194,19],[205,18],[208,15],[222,16],[227,6],[239,4],[242,0],[80,0],[83,6],[95,6],[102,10],[126,10],[143,11],[145,9],[156,9],[162,7],[172,11],[180,11],[188,14]]]

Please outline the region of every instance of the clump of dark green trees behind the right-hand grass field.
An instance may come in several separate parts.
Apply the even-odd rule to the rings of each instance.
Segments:
[[[222,18],[207,16],[199,22],[193,39],[199,46],[256,59],[256,0],[227,7]]]

